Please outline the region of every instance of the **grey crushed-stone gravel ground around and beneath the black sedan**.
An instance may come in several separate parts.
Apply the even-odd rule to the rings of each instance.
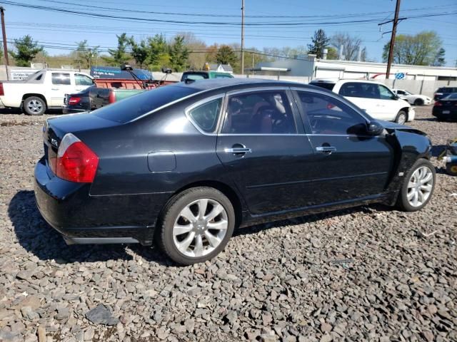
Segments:
[[[411,126],[436,156],[457,123],[430,113]],[[421,212],[241,229],[211,262],[177,267],[149,247],[67,247],[41,219],[46,116],[0,115],[0,341],[457,341],[457,178],[435,158]]]

